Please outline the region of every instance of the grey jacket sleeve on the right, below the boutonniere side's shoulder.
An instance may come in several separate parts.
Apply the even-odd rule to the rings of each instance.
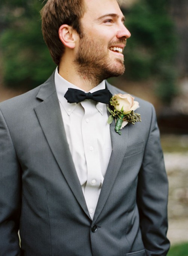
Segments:
[[[167,239],[168,180],[161,149],[156,114],[152,120],[138,176],[137,204],[142,238],[147,256],[165,256],[170,247]]]

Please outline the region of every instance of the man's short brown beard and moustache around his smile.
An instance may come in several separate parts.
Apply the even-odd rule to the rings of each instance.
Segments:
[[[76,71],[80,77],[99,84],[109,77],[123,75],[124,59],[113,58],[109,54],[109,48],[119,43],[126,44],[126,39],[109,43],[106,50],[100,41],[91,40],[83,35],[80,38],[79,51],[74,60]]]

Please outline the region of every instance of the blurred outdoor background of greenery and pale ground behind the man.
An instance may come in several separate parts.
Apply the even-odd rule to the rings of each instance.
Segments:
[[[40,0],[0,1],[0,101],[55,69],[42,38]],[[126,72],[109,82],[153,103],[169,179],[170,255],[188,256],[188,1],[123,0],[131,32]]]

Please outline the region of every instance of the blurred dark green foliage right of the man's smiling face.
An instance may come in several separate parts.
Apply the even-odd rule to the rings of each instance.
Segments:
[[[169,103],[176,94],[176,35],[167,3],[140,0],[126,14],[126,26],[132,35],[127,41],[125,75],[133,81],[152,77],[157,81],[158,96]]]

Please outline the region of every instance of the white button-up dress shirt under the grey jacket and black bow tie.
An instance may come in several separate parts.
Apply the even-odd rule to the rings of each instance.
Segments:
[[[55,86],[74,166],[93,218],[112,152],[107,106],[94,100],[68,103],[64,97],[68,88],[81,89],[62,78],[58,68]],[[105,89],[105,81],[89,92],[102,89]]]

